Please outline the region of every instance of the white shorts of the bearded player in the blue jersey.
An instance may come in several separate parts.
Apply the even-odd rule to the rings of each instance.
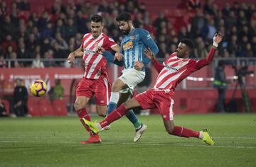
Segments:
[[[122,71],[122,75],[119,76],[118,79],[120,79],[124,84],[127,84],[128,88],[125,88],[119,92],[127,93],[129,91],[132,94],[135,86],[144,80],[145,75],[145,71],[138,71],[136,69],[124,69]]]

